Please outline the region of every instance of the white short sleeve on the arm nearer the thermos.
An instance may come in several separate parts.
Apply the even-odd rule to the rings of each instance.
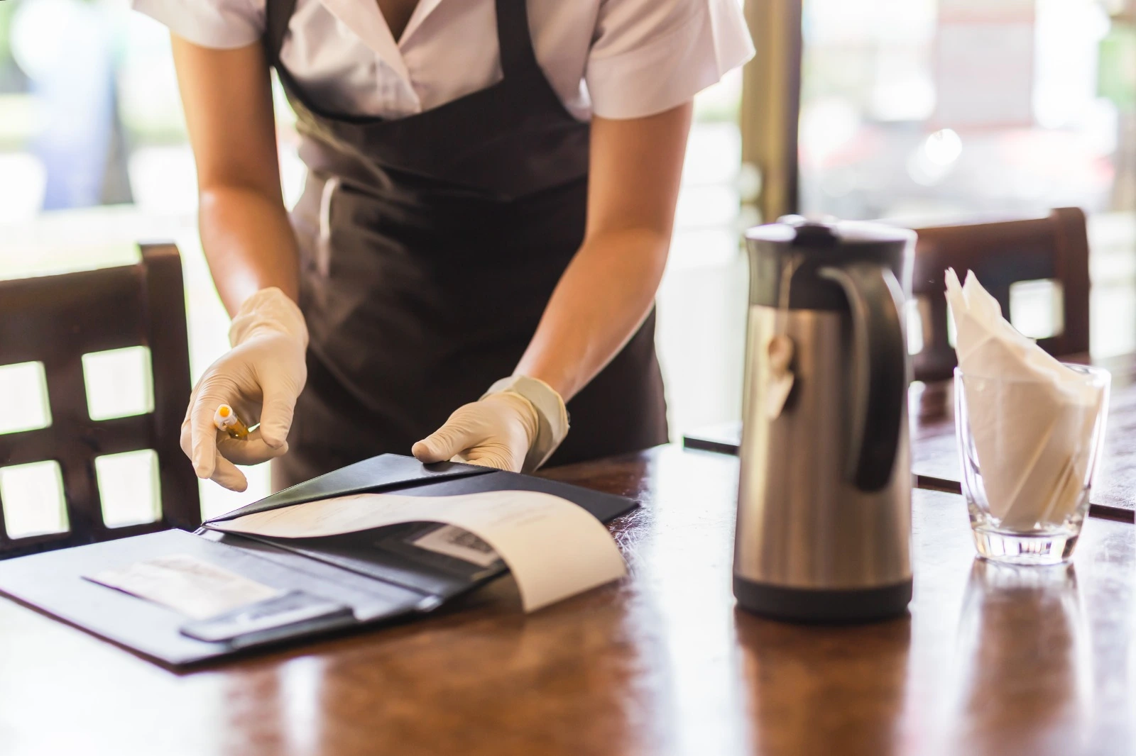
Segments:
[[[596,116],[642,118],[751,57],[738,0],[604,0],[584,77]]]

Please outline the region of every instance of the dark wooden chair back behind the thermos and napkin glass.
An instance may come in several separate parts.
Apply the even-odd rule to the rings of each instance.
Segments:
[[[1010,286],[1053,280],[1062,292],[1063,328],[1037,344],[1053,355],[1088,352],[1088,235],[1078,208],[1044,218],[917,228],[912,295],[922,320],[924,348],[913,355],[917,380],[942,380],[958,364],[947,341],[944,274],[962,280],[972,270],[1010,317]]]

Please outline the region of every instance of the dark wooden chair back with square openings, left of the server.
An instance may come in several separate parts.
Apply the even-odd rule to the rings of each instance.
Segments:
[[[143,245],[135,266],[0,282],[0,558],[200,523],[179,447],[190,366],[175,245]],[[31,380],[14,396],[16,373]]]

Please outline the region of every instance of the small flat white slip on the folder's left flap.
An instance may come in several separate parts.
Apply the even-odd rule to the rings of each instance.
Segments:
[[[162,604],[194,620],[284,594],[189,554],[172,554],[83,577]]]

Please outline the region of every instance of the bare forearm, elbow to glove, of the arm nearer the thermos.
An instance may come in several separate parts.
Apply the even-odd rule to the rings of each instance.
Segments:
[[[590,237],[560,278],[517,364],[567,402],[635,334],[654,302],[670,237],[626,228]]]

